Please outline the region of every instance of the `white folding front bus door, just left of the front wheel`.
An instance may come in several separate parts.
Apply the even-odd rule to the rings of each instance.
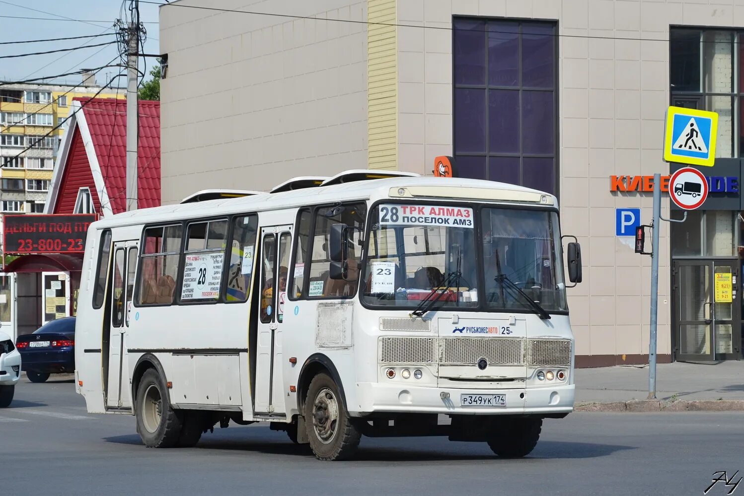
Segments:
[[[286,412],[282,377],[282,323],[292,234],[290,226],[262,228],[257,340],[254,353],[255,413]]]

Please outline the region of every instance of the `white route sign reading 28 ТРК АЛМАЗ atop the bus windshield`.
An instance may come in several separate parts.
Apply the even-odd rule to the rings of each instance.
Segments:
[[[381,225],[430,225],[445,228],[472,228],[472,208],[447,205],[383,204],[379,206]]]

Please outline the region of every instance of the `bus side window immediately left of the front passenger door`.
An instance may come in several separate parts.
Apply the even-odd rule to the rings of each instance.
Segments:
[[[255,215],[236,216],[233,219],[232,236],[228,243],[228,276],[223,290],[227,302],[248,300],[257,226],[258,217]]]

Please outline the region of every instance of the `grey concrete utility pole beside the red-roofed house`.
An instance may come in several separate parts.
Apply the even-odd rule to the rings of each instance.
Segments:
[[[137,147],[138,147],[138,102],[137,102],[137,53],[139,25],[129,22],[126,50],[126,210],[137,210]]]

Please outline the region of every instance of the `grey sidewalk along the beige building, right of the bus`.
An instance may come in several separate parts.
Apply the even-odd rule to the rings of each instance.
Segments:
[[[606,405],[605,408],[598,405],[586,408],[586,405],[645,400],[648,396],[647,366],[577,369],[575,379],[576,405],[581,410],[625,410],[618,408],[617,403]],[[687,404],[682,402],[705,402],[690,409],[744,410],[744,361],[658,364],[656,398],[661,401],[661,408],[676,402],[679,404],[676,409],[687,410]],[[728,406],[710,405],[709,402],[725,402]]]

